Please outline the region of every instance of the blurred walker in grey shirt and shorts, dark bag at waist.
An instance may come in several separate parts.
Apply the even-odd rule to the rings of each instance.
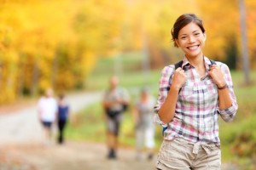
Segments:
[[[103,97],[103,108],[107,122],[108,159],[116,159],[118,149],[119,128],[123,113],[129,105],[129,95],[125,88],[119,88],[119,78],[111,77],[109,88]]]

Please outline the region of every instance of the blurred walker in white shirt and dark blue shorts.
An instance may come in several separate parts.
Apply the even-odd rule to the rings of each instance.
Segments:
[[[56,119],[57,102],[53,97],[54,91],[48,88],[45,95],[38,101],[38,117],[44,129],[44,144],[50,144],[52,139],[52,127]]]

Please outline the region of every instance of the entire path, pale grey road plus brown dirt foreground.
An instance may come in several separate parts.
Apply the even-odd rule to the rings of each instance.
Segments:
[[[72,114],[101,99],[101,93],[67,96]],[[106,159],[105,144],[42,144],[36,102],[0,115],[0,170],[154,169],[154,161],[135,161],[135,151],[120,149],[119,159]],[[1,110],[0,110],[1,111]]]

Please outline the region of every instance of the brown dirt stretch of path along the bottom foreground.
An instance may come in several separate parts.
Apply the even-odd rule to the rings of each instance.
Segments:
[[[0,156],[4,152],[0,147]],[[5,149],[6,150],[6,149]],[[38,144],[9,146],[5,163],[0,169],[24,170],[140,170],[154,169],[154,160],[135,160],[133,150],[120,149],[118,160],[106,159],[104,144],[75,143],[51,145]]]

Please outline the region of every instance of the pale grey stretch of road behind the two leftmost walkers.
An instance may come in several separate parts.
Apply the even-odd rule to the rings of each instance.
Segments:
[[[85,108],[101,99],[101,93],[81,93],[67,95],[71,113]],[[20,109],[22,108],[22,109]],[[0,115],[0,145],[30,144],[41,141],[42,129],[38,123],[36,102],[19,110],[5,110]]]

